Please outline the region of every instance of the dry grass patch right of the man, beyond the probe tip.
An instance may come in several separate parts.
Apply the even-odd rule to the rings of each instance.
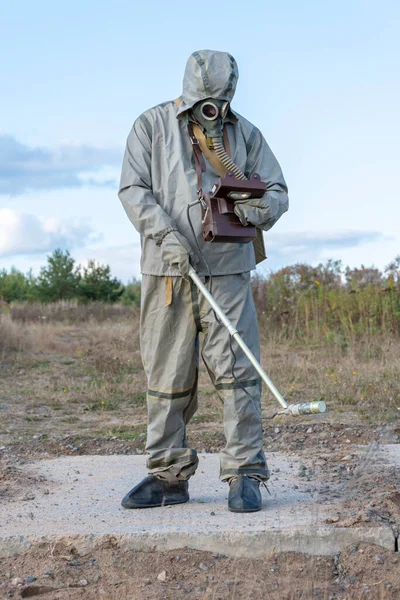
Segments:
[[[289,401],[324,399],[337,417],[394,422],[400,416],[400,340],[365,337],[347,346],[262,344],[262,364]]]

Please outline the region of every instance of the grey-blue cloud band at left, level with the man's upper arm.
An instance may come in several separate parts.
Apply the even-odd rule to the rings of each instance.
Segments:
[[[11,135],[0,134],[0,194],[19,195],[31,190],[77,188],[83,185],[115,187],[114,176],[96,177],[99,171],[120,165],[115,148],[63,145],[30,147]]]

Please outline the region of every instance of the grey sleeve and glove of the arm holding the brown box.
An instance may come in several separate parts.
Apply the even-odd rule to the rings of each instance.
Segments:
[[[248,222],[268,231],[289,208],[288,189],[278,161],[256,127],[247,146],[246,173],[249,177],[258,173],[267,191],[263,198],[250,200],[242,207]]]

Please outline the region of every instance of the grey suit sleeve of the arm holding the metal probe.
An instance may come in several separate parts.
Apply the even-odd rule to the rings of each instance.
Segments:
[[[137,231],[160,242],[176,226],[153,196],[151,155],[148,127],[139,117],[128,136],[118,196]]]

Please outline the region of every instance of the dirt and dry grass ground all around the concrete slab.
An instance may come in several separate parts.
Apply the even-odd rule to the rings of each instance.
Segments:
[[[0,502],[49,493],[48,481],[23,475],[31,460],[145,452],[137,328],[28,323],[11,334],[20,336],[18,344],[0,355]],[[265,420],[267,456],[299,457],[302,481],[318,501],[341,499],[327,522],[384,524],[393,532],[393,551],[360,544],[335,557],[285,553],[255,560],[193,550],[132,553],[118,546],[78,556],[73,548],[36,546],[0,561],[0,598],[400,598],[400,473],[376,460],[382,444],[400,441],[399,357],[400,344],[385,340],[346,350],[263,341],[263,364],[285,397],[324,398],[329,408],[315,417]],[[222,407],[204,370],[199,404],[189,441],[199,451],[217,452],[224,445]],[[270,415],[268,394],[263,406]],[[273,485],[279,474],[270,467]]]

